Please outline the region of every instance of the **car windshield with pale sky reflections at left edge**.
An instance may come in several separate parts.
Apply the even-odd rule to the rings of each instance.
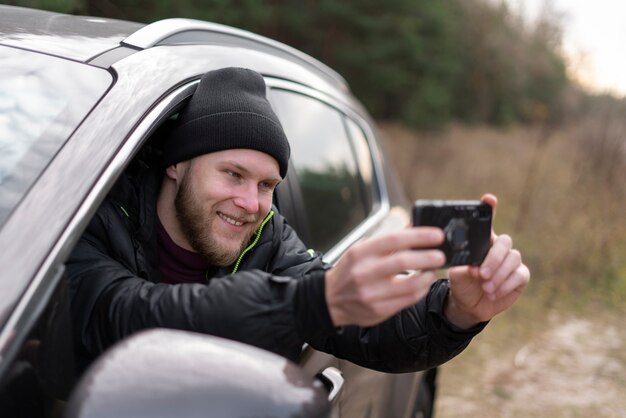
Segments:
[[[48,55],[0,47],[0,225],[112,82]]]

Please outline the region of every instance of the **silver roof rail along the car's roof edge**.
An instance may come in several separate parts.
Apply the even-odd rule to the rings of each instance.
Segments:
[[[172,18],[159,20],[134,32],[122,41],[123,45],[147,49],[157,45],[176,44],[215,44],[219,40],[228,44],[243,46],[255,45],[271,50],[274,55],[282,55],[289,59],[297,59],[309,67],[322,73],[325,78],[341,85],[348,90],[348,83],[335,70],[317,59],[281,42],[219,23],[205,22],[195,19]]]

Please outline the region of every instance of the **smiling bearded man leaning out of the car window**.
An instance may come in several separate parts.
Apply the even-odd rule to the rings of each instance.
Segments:
[[[272,208],[289,143],[253,71],[205,74],[162,151],[161,170],[127,170],[70,257],[83,366],[136,331],[169,327],[292,360],[307,342],[377,370],[424,369],[463,350],[529,281],[511,239],[495,234],[480,268],[434,281],[443,233],[425,227],[325,265]]]

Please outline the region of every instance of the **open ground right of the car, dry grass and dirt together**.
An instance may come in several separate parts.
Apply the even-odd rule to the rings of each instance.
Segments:
[[[442,367],[437,418],[626,416],[626,135],[588,123],[381,124],[412,199],[496,194],[496,232],[532,272],[518,304]]]

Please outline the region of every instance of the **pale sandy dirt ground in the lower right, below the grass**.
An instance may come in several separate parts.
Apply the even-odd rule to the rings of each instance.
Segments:
[[[532,330],[513,326],[524,320],[519,315],[507,316],[442,367],[437,418],[626,417],[619,315],[553,312]]]

